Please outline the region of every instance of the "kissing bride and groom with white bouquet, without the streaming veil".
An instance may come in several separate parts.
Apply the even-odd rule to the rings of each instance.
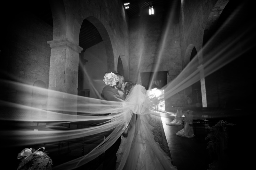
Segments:
[[[129,108],[123,112],[127,120],[124,120],[122,135],[105,151],[103,169],[177,170],[154,140],[145,87],[124,81],[120,73],[107,73],[103,81],[106,86],[101,93],[102,100],[124,102]]]

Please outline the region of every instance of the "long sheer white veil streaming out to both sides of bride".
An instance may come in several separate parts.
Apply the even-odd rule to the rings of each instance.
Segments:
[[[1,140],[1,145],[5,148],[23,147],[76,138],[83,138],[87,143],[97,141],[97,145],[88,154],[55,166],[54,169],[75,169],[82,166],[105,152],[121,136],[124,124],[134,119],[133,113],[143,115],[146,113],[144,110],[155,110],[153,106],[160,100],[172,99],[174,95],[197,81],[204,83],[204,77],[252,52],[255,48],[255,43],[251,43],[255,38],[254,28],[255,24],[252,24],[245,27],[244,31],[234,30],[234,36],[220,42],[200,63],[196,60],[197,57],[194,57],[175,79],[162,87],[164,94],[153,99],[137,97],[132,98],[131,102],[126,102],[129,101],[128,96],[126,101],[104,101],[69,94],[63,87],[64,90],[58,89],[60,87],[55,90],[34,87],[29,85],[31,82],[22,81],[17,77],[3,78],[5,75],[2,76],[1,73],[0,121],[2,127],[9,127],[0,130],[1,138],[4,139]],[[241,46],[243,50],[240,50]],[[204,45],[204,49],[210,47],[208,44]],[[202,53],[203,49],[197,55],[202,56]],[[144,89],[135,87],[138,89],[132,90],[131,93],[136,96],[136,93],[142,90],[141,94],[146,96]],[[64,92],[60,92],[61,90]],[[157,112],[151,111],[150,114],[157,115]],[[168,116],[171,113],[164,114]],[[61,123],[68,127],[70,125],[70,128],[49,128],[52,124]],[[83,125],[72,128],[73,125],[78,127],[79,124]]]

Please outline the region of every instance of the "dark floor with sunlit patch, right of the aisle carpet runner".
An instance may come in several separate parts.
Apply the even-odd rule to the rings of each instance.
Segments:
[[[178,170],[207,170],[208,164],[211,163],[206,149],[207,141],[204,137],[185,138],[177,136],[176,133],[183,129],[183,125],[166,125],[172,120],[162,117],[173,165],[177,166]]]

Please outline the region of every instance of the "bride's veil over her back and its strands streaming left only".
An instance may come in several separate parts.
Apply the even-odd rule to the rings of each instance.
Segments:
[[[2,82],[2,88],[19,89],[23,96],[20,98],[6,96],[5,100],[1,100],[1,122],[3,125],[12,126],[11,129],[2,130],[1,135],[6,141],[11,142],[8,143],[10,146],[29,146],[76,138],[83,138],[84,143],[100,141],[88,154],[55,166],[54,169],[75,169],[100,156],[121,136],[125,124],[132,123],[130,120],[134,118],[133,113],[145,115],[148,121],[150,120],[149,110],[152,103],[141,85],[134,86],[125,101],[113,102],[13,81]],[[36,93],[37,96],[32,103],[41,103],[45,100],[48,102],[46,110],[28,104],[31,101],[26,101],[28,98],[24,96],[31,95],[31,92]],[[49,128],[54,123],[84,126],[69,130]],[[42,126],[33,126],[36,124]],[[40,130],[34,131],[34,129]],[[95,136],[102,138],[99,140]]]

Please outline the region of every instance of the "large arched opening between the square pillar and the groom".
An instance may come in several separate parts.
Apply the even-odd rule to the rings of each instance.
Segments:
[[[79,46],[84,50],[79,54],[78,95],[100,99],[103,77],[114,70],[114,55],[108,32],[97,18],[84,19]]]

